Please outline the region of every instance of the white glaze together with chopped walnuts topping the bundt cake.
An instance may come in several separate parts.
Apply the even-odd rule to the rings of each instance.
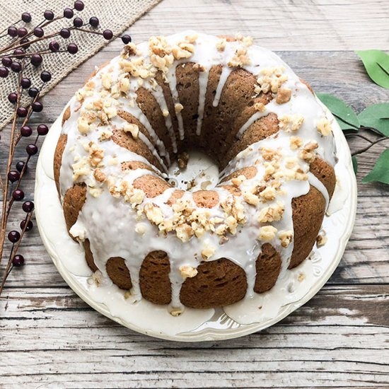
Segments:
[[[199,66],[197,135],[202,133],[207,81],[215,65],[221,65],[222,70],[214,107],[228,76],[238,68],[256,77],[256,94],[272,93],[267,105],[256,104],[256,112],[240,127],[238,139],[250,125],[271,113],[279,122],[277,134],[248,146],[221,172],[221,179],[238,172],[223,185],[236,187],[240,195],[223,186],[207,188],[204,196],[211,200],[205,207],[195,201],[195,192],[176,198],[174,187],[164,187],[161,193],[148,195],[147,190],[134,185],[146,175],[151,179],[166,177],[178,140],[185,139],[181,114],[185,106],[180,103],[175,74],[176,67],[185,62]],[[166,100],[155,79],[158,71],[173,97],[178,134],[173,131]],[[160,105],[173,153],[137,105],[140,87],[150,91]],[[77,91],[69,109],[69,120],[62,129],[67,135],[60,172],[62,198],[76,182],[85,182],[88,188],[70,233],[90,240],[95,264],[103,276],[107,276],[105,262],[110,257],[123,257],[135,295],[140,296],[141,262],[152,250],[163,250],[169,256],[174,307],[180,306],[180,285],[197,274],[199,263],[221,257],[245,270],[250,295],[255,260],[263,243],[272,244],[281,254],[281,273],[289,265],[294,246],[291,200],[306,194],[313,185],[328,202],[327,190],[310,173],[309,163],[319,156],[335,165],[331,123],[322,105],[289,66],[273,52],[252,45],[250,37],[237,35],[229,41],[190,31],[129,44]],[[147,136],[120,112],[136,117]],[[117,132],[141,141],[156,163],[117,144]],[[142,163],[144,168],[123,169],[122,164],[129,161]]]

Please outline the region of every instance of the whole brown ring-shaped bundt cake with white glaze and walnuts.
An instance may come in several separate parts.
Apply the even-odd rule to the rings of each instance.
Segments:
[[[190,149],[217,185],[171,184]],[[335,163],[323,106],[276,54],[186,32],[130,43],[92,74],[64,110],[54,178],[93,272],[176,314],[282,282],[315,244]]]

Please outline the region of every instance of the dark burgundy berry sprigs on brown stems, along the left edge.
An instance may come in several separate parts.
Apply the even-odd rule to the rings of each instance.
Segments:
[[[83,1],[74,1],[73,8],[66,7],[61,15],[55,15],[53,11],[47,10],[43,13],[43,20],[31,27],[32,16],[28,12],[23,12],[21,19],[13,25],[0,32],[0,79],[15,77],[16,91],[8,94],[8,101],[13,105],[13,122],[11,126],[11,137],[9,143],[8,163],[6,175],[4,178],[0,175],[0,186],[2,192],[2,212],[0,229],[0,264],[4,254],[4,243],[8,237],[11,243],[6,269],[0,283],[0,295],[5,281],[14,267],[24,265],[23,255],[18,254],[18,248],[24,233],[33,228],[34,204],[31,201],[23,202],[22,209],[25,212],[25,218],[20,223],[20,231],[13,229],[6,233],[8,216],[13,204],[25,200],[25,192],[21,189],[23,175],[28,170],[30,158],[38,153],[38,141],[44,137],[49,128],[45,124],[39,124],[33,128],[29,124],[31,115],[42,112],[44,106],[40,101],[41,91],[46,83],[52,79],[50,71],[41,68],[43,56],[46,54],[67,52],[76,54],[79,47],[74,42],[69,42],[74,33],[90,33],[100,35],[105,40],[112,40],[117,37],[111,30],[99,30],[100,21],[92,16],[89,20],[83,21],[76,16],[76,13],[85,8]],[[59,20],[68,19],[70,25],[61,27],[54,33],[46,33],[47,26]],[[71,22],[70,22],[71,21]],[[21,25],[21,23],[24,23]],[[52,29],[51,29],[52,30]],[[127,45],[131,42],[129,35],[120,36],[122,42]],[[5,42],[1,45],[1,42]],[[33,71],[33,73],[32,73]],[[39,74],[37,82],[33,79],[37,77],[28,76],[28,74]],[[1,80],[0,80],[1,83]],[[25,160],[18,161],[13,166],[13,157],[19,141],[23,138],[33,136],[27,146],[25,146]],[[1,140],[1,137],[0,137]]]

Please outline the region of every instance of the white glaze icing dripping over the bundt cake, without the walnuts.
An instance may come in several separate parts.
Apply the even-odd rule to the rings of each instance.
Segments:
[[[167,37],[170,44],[180,42],[190,32],[182,34],[172,35]],[[236,50],[242,46],[241,42],[227,42],[226,48],[223,52],[216,50],[216,42],[219,38],[210,35],[199,34],[197,42],[194,44],[194,53],[190,59],[178,60],[173,63],[170,67],[167,76],[167,81],[170,86],[170,91],[173,96],[175,104],[180,104],[178,97],[178,91],[176,88],[177,80],[175,76],[176,66],[180,66],[185,62],[194,62],[204,67],[204,71],[200,72],[199,76],[199,108],[197,118],[197,134],[201,134],[202,130],[202,119],[204,115],[204,100],[205,93],[207,91],[207,79],[211,66],[221,64],[222,71],[219,79],[219,84],[216,88],[216,94],[214,97],[213,105],[217,106],[223,93],[223,86],[231,74],[232,68],[228,66],[228,62],[231,60]],[[137,46],[139,55],[143,55],[147,59],[149,54],[149,47],[147,43],[140,44]],[[301,83],[298,77],[293,71],[284,64],[284,62],[277,57],[276,54],[269,52],[262,47],[250,46],[247,48],[248,57],[250,58],[250,64],[242,66],[243,69],[249,71],[252,74],[259,75],[262,69],[267,69],[274,66],[283,66],[284,74],[288,79],[284,82],[283,87],[289,88],[292,91],[291,100],[288,103],[277,104],[273,99],[269,104],[266,105],[264,112],[256,112],[238,131],[238,138],[242,137],[244,132],[250,127],[252,123],[274,113],[278,117],[284,115],[302,115],[304,118],[303,124],[294,132],[293,135],[297,135],[303,140],[303,143],[315,141],[318,143],[318,149],[315,150],[318,156],[323,158],[325,161],[330,163],[332,166],[335,165],[335,144],[332,135],[323,137],[317,130],[316,124],[318,120],[325,117],[325,111],[323,107],[318,103],[315,97],[310,93],[308,88]],[[101,78],[108,71],[112,74],[112,79],[119,79],[122,76],[120,72],[120,66],[118,65],[118,58],[112,59],[108,66],[100,70],[92,81],[95,83],[94,91],[100,91],[102,88]],[[145,88],[151,89],[148,80],[142,81],[142,85]],[[130,78],[130,88],[127,96],[120,96],[115,100],[117,107],[131,113],[136,117],[149,132],[149,136],[153,140],[153,143],[147,139],[144,134],[139,133],[139,139],[144,141],[146,146],[149,147],[151,153],[156,156],[157,160],[166,171],[170,164],[170,156],[166,151],[166,147],[163,145],[161,139],[158,138],[156,132],[152,129],[151,124],[147,117],[143,114],[137,103],[134,105],[129,104],[129,99],[136,98],[135,92],[139,88],[139,79],[137,77]],[[161,97],[161,89],[153,91],[153,95],[157,96],[156,100],[161,105],[161,109],[166,110],[166,101]],[[100,126],[97,129],[88,132],[86,135],[81,135],[77,129],[77,119],[81,112],[85,109],[88,103],[93,103],[95,94],[86,97],[81,105],[73,98],[69,103],[71,108],[71,117],[64,124],[62,132],[67,134],[68,140],[66,148],[64,150],[64,156],[62,159],[61,168],[61,197],[63,198],[64,193],[70,187],[74,185],[73,169],[74,157],[76,158],[87,158],[88,151],[85,145],[89,142],[95,142],[98,146],[103,149],[104,152],[104,166],[101,168],[103,173],[110,178],[114,178],[117,181],[125,180],[129,184],[134,182],[136,178],[141,177],[144,174],[150,174],[149,170],[138,169],[134,171],[123,172],[120,169],[120,163],[124,161],[142,161],[148,165],[149,162],[145,158],[127,151],[120,146],[117,146],[112,140],[98,142],[101,130],[105,129],[104,126]],[[185,107],[184,107],[185,109]],[[182,121],[181,112],[176,112],[178,120],[178,132],[179,138],[185,139],[185,128]],[[112,126],[120,127],[124,123],[124,120],[119,117],[113,117],[108,126],[108,129]],[[173,149],[177,151],[175,135],[173,132],[173,125],[171,118],[166,118],[166,126],[170,134],[170,139],[173,144]],[[281,149],[281,166],[284,166],[288,158],[298,158],[298,150],[291,150],[289,146],[291,133],[286,131],[279,131],[276,135],[269,137],[265,140],[258,141],[252,144],[247,149],[238,153],[233,158],[228,166],[223,171],[223,176],[226,176],[233,171],[248,166],[254,166],[255,162],[260,160],[262,163],[256,165],[257,174],[254,178],[246,180],[240,185],[240,190],[250,190],[255,185],[259,185],[262,182],[263,176],[265,175],[265,167],[263,165],[263,159],[261,157],[261,149]],[[154,147],[154,144],[156,147]],[[163,162],[162,157],[166,158],[166,163]],[[117,164],[110,165],[108,161],[115,159]],[[301,168],[305,173],[308,173],[308,163],[299,161]],[[156,174],[157,175],[157,174]],[[236,263],[245,270],[248,289],[247,297],[250,298],[254,295],[253,286],[255,283],[255,260],[261,252],[261,245],[264,243],[258,239],[258,231],[261,226],[257,221],[257,214],[259,209],[252,207],[249,204],[244,204],[245,211],[245,223],[242,226],[238,226],[238,233],[235,235],[228,235],[228,241],[219,244],[219,236],[214,233],[207,232],[201,238],[192,237],[186,243],[182,243],[174,233],[168,233],[167,236],[162,236],[158,233],[158,228],[151,225],[146,219],[142,220],[142,223],[146,225],[146,231],[143,235],[139,235],[135,232],[134,226],[139,222],[137,211],[133,209],[130,204],[124,203],[122,199],[112,197],[107,188],[103,185],[95,182],[93,173],[84,175],[80,181],[86,182],[88,187],[100,187],[102,193],[99,197],[93,197],[88,191],[86,202],[79,214],[79,219],[72,228],[72,231],[77,231],[80,236],[86,236],[91,242],[91,250],[95,264],[103,274],[105,279],[108,279],[108,274],[105,270],[105,263],[110,257],[124,257],[129,272],[132,277],[133,290],[132,294],[135,299],[141,298],[139,289],[139,269],[144,257],[152,250],[163,250],[168,254],[170,260],[170,281],[172,284],[172,303],[173,307],[180,306],[180,287],[185,281],[180,273],[180,267],[182,265],[189,265],[197,268],[199,263],[202,262],[202,248],[204,245],[211,245],[216,248],[214,255],[209,260],[216,260],[225,257],[232,262]],[[231,183],[231,182],[226,182]],[[278,231],[293,231],[293,223],[291,219],[291,199],[294,197],[306,194],[309,190],[309,183],[315,186],[325,197],[326,203],[328,203],[328,194],[325,187],[315,178],[313,175],[308,175],[308,180],[283,180],[281,188],[284,190],[284,194],[277,196],[277,199],[273,202],[268,202],[266,206],[282,202],[284,204],[284,216],[279,221],[272,222],[272,226],[277,228]],[[210,188],[208,188],[210,189]],[[232,201],[232,195],[224,190],[222,187],[212,188],[219,194],[219,204],[222,202]],[[144,199],[143,206],[148,203],[157,204],[161,209],[163,215],[166,218],[172,216],[173,211],[170,206],[166,204],[168,198],[173,193],[175,188],[166,190],[163,194],[153,199]],[[192,199],[192,192],[186,192],[183,199],[188,199],[194,204]],[[260,207],[264,207],[262,204]],[[224,217],[223,209],[221,207],[214,207],[208,209],[208,218],[211,217]],[[244,233],[240,233],[244,231]],[[291,252],[293,251],[293,240],[287,248],[281,246],[280,240],[277,236],[274,236],[269,241],[274,248],[280,252],[281,255],[281,273],[279,279],[284,277],[286,269],[289,265]]]

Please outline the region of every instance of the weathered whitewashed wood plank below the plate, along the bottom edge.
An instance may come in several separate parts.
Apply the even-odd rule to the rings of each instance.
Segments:
[[[13,289],[0,311],[4,385],[92,388],[102,381],[101,388],[189,388],[198,380],[204,388],[389,385],[388,285],[327,286],[278,325],[219,343],[139,335],[95,312],[69,289]]]

